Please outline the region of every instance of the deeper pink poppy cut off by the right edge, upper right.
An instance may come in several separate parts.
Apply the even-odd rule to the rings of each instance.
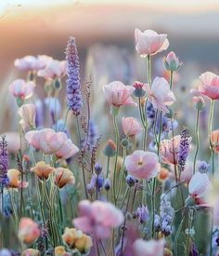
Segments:
[[[200,74],[201,85],[199,91],[201,94],[212,100],[219,100],[219,76],[212,72]]]

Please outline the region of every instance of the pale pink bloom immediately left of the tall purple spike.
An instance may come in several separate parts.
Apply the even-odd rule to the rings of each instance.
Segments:
[[[49,61],[45,69],[38,71],[38,76],[43,76],[45,79],[57,79],[66,74],[66,61]]]

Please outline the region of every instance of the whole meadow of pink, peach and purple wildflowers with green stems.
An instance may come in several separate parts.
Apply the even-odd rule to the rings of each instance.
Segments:
[[[72,36],[65,61],[15,60],[26,79],[8,85],[19,122],[0,141],[0,255],[218,255],[219,76],[200,74],[192,127],[182,124],[175,78],[183,63],[167,37],[135,29],[147,81],[112,80],[101,92],[92,76],[80,77]],[[158,53],[165,77],[152,79]],[[102,98],[106,108],[95,115]]]

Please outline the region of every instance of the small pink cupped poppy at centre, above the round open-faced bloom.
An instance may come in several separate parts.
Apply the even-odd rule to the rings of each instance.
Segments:
[[[142,127],[134,117],[122,117],[122,129],[126,136],[135,136]]]

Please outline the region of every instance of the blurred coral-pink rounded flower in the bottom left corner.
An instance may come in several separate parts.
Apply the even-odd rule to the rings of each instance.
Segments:
[[[25,244],[33,243],[41,235],[37,222],[30,218],[21,218],[19,221],[19,240]]]

